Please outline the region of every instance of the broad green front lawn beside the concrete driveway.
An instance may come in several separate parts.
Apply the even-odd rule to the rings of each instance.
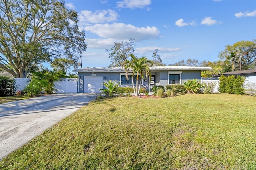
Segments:
[[[256,98],[101,99],[0,162],[0,169],[256,168]]]

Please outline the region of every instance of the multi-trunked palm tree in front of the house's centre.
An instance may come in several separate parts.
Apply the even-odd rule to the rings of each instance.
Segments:
[[[147,59],[145,56],[138,58],[133,54],[129,55],[131,57],[131,60],[126,60],[124,61],[124,63],[122,63],[122,67],[125,68],[126,71],[126,79],[128,80],[128,73],[130,72],[132,75],[132,87],[133,87],[133,91],[135,96],[139,95],[140,92],[140,85],[141,85],[141,81],[142,79],[144,79],[144,75],[146,75],[146,78],[149,76],[151,77],[151,73],[150,73],[150,66],[153,65],[153,61]],[[133,76],[136,76],[136,90],[135,90],[135,86],[134,86],[134,81],[133,81]],[[140,79],[139,79],[140,77]],[[138,87],[138,83],[140,80],[140,85]]]

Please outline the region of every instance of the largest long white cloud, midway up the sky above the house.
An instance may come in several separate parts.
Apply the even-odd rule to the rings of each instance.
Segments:
[[[160,31],[156,27],[136,27],[130,24],[95,24],[84,27],[86,31],[100,36],[101,38],[112,38],[115,40],[129,40],[134,38],[136,42],[158,38]]]

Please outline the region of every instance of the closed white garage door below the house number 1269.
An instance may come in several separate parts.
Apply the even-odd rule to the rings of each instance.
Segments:
[[[103,85],[102,76],[84,76],[84,93],[99,93]]]

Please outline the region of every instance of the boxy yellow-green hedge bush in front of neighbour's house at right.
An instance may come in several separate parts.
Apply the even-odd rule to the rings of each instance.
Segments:
[[[236,77],[234,75],[230,75],[228,77],[225,77],[224,75],[220,76],[220,93],[229,93],[236,95],[244,94],[244,79],[244,77]]]

